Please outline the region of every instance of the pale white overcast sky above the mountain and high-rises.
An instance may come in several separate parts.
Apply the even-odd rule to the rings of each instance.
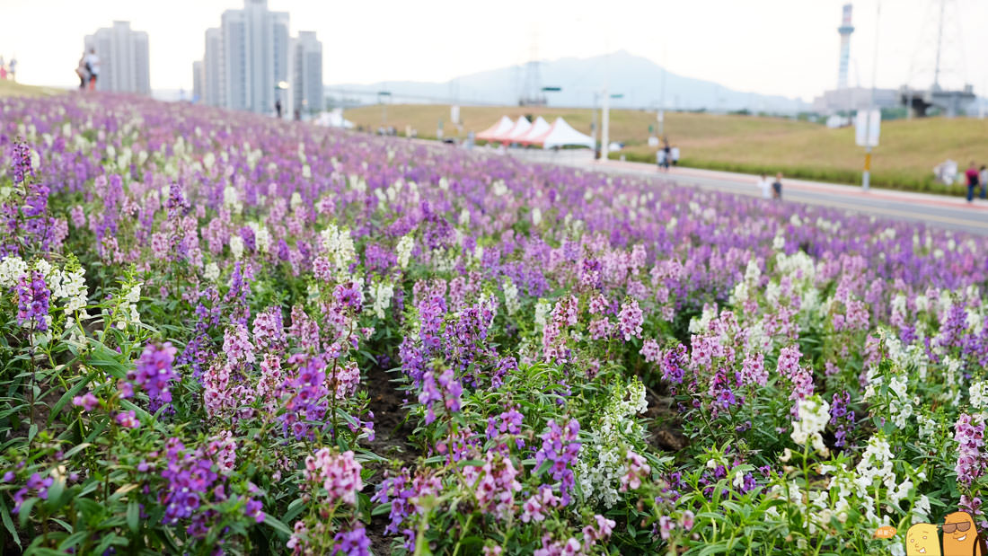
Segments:
[[[877,0],[854,2],[850,83],[871,84]],[[739,91],[810,100],[837,81],[844,0],[269,0],[323,42],[332,83],[445,81],[537,56],[626,49]],[[883,0],[877,84],[932,81],[940,0]],[[151,88],[192,88],[203,34],[237,0],[0,0],[0,55],[20,81],[77,83],[83,37],[114,20],[150,41]],[[947,0],[947,85],[988,87],[988,0]],[[534,38],[537,37],[537,40]],[[560,84],[565,86],[565,84]]]

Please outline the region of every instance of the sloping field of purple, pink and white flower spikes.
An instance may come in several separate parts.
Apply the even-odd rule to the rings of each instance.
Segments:
[[[988,530],[984,238],[114,95],[0,155],[4,552]]]

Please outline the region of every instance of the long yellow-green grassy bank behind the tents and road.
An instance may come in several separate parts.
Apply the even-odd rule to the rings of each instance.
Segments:
[[[587,109],[463,107],[461,135],[481,131],[501,116],[563,117],[573,127],[590,132],[593,115]],[[381,124],[380,106],[349,110],[347,119],[366,127]],[[420,136],[435,136],[440,119],[444,134],[456,136],[450,125],[450,107],[396,105],[387,107],[387,122],[399,133],[411,125]],[[612,140],[625,144],[627,160],[654,163],[648,127],[655,113],[615,110],[611,113]],[[668,114],[665,134],[680,147],[684,166],[734,172],[775,174],[791,178],[843,184],[861,182],[864,149],[854,140],[854,129],[827,127],[792,119],[708,114]],[[613,154],[617,157],[619,154]],[[961,167],[975,160],[988,164],[988,120],[913,119],[882,124],[881,144],[874,150],[871,179],[876,187],[945,195],[963,195],[961,186],[936,184],[933,168],[947,158]]]

